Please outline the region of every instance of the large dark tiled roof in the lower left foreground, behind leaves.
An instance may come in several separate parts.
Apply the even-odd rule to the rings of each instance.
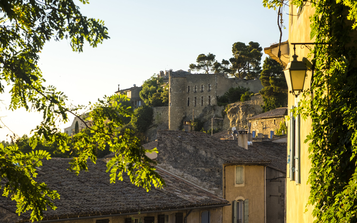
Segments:
[[[167,187],[149,192],[130,183],[129,177],[115,184],[109,183],[106,163],[88,163],[88,172],[77,176],[67,171],[70,159],[43,160],[37,179],[61,195],[54,203],[56,210],[44,211],[44,221],[78,216],[168,210],[197,206],[225,205],[228,201],[195,187],[163,170],[157,172]],[[0,206],[15,212],[16,203],[0,196]],[[22,215],[29,217],[26,212]]]

